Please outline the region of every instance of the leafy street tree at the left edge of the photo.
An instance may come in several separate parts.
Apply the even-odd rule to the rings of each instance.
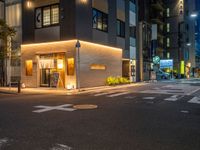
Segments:
[[[12,38],[15,35],[15,29],[7,25],[5,20],[0,19],[0,83],[2,85],[5,85],[7,82],[7,59],[9,54],[11,54],[10,49],[8,49],[8,41],[10,41],[9,38]]]

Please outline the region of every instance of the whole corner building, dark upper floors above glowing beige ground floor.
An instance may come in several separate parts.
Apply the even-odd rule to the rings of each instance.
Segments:
[[[137,80],[136,0],[23,0],[22,30],[28,87],[97,86],[122,74]]]

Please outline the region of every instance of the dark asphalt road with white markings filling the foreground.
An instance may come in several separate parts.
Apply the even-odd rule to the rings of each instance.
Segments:
[[[0,150],[200,150],[200,87],[0,94]],[[71,104],[71,105],[68,105]],[[92,110],[74,105],[92,104]]]

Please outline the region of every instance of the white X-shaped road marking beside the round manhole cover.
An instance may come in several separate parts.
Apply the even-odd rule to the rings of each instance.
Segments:
[[[39,110],[33,111],[34,113],[43,113],[47,111],[52,111],[52,110],[61,110],[61,111],[75,111],[76,109],[74,108],[68,108],[73,106],[72,104],[64,104],[64,105],[59,105],[59,106],[34,106],[35,108],[40,108]]]

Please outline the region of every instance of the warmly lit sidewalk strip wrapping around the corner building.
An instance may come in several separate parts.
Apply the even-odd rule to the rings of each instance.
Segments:
[[[100,86],[92,88],[81,88],[78,90],[67,90],[67,89],[56,89],[56,88],[22,88],[20,94],[53,94],[53,95],[77,95],[77,94],[86,94],[94,91],[105,91],[112,89],[128,88],[134,86],[142,86],[147,83],[132,83],[127,85],[117,85],[117,86]],[[0,87],[0,94],[18,94],[16,87]]]

